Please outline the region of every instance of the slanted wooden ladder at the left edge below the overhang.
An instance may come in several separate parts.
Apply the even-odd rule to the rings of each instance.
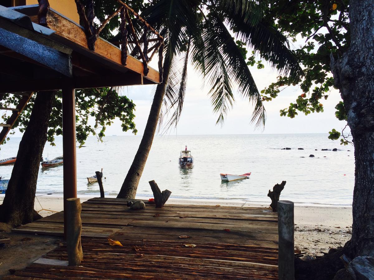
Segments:
[[[22,110],[25,108],[27,103],[30,101],[31,96],[33,96],[33,91],[27,91],[27,92],[15,92],[11,93],[15,95],[20,95],[22,98],[19,100],[18,105],[16,108],[7,108],[7,107],[0,107],[0,110],[8,110],[12,111],[12,115],[10,115],[10,118],[7,119],[5,124],[0,124],[0,127],[3,127],[3,129],[0,132],[0,144],[3,144],[5,137],[9,133],[9,131],[13,128],[13,125],[15,124],[16,120],[19,117],[19,114],[22,112]],[[2,99],[2,96],[0,96],[0,100]]]

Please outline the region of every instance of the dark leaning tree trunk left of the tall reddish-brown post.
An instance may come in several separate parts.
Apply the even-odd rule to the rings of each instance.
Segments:
[[[40,158],[47,141],[47,130],[55,91],[37,93],[30,121],[22,136],[3,205],[0,220],[15,225],[30,223],[41,216],[34,210]]]

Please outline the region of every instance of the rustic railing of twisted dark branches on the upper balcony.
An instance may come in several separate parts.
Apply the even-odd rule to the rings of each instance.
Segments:
[[[77,11],[80,17],[80,22],[85,29],[85,34],[88,42],[88,49],[95,51],[95,42],[99,37],[100,32],[105,25],[116,15],[120,15],[120,33],[122,40],[111,42],[112,44],[121,48],[121,62],[123,65],[127,63],[128,53],[137,59],[142,60],[144,66],[144,76],[148,74],[148,62],[158,53],[160,83],[162,82],[162,60],[163,60],[163,37],[157,32],[147,21],[145,21],[137,12],[121,0],[116,0],[120,6],[111,15],[109,15],[101,25],[96,28],[93,20],[95,19],[93,0],[87,0],[86,5],[83,5],[80,0],[75,0]],[[49,10],[48,0],[39,0],[38,20],[39,24],[47,26],[47,12]],[[134,28],[134,23],[140,22],[140,26],[144,26],[142,34],[137,34]],[[96,22],[96,21],[95,21]],[[139,31],[138,31],[139,33]],[[138,39],[140,37],[140,39]],[[151,45],[151,46],[150,46]]]

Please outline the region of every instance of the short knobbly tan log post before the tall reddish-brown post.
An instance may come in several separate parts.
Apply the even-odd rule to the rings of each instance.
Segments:
[[[66,199],[66,209],[64,212],[67,215],[66,249],[69,265],[80,265],[83,259],[82,244],[80,242],[80,234],[82,232],[80,211],[82,211],[82,205],[80,205],[79,198]]]

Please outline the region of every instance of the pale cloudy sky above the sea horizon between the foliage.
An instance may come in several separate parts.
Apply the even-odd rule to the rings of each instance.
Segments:
[[[269,65],[264,69],[257,69],[256,66],[249,66],[258,90],[261,91],[270,83],[276,81],[279,75],[272,70]],[[150,111],[155,85],[138,85],[123,88],[121,94],[127,95],[136,104],[135,124],[138,135],[144,132]],[[250,124],[252,105],[248,100],[242,99],[236,94],[236,103],[228,113],[224,125],[216,125],[217,115],[213,112],[209,96],[209,85],[203,86],[203,78],[197,73],[193,66],[188,66],[188,80],[186,97],[183,112],[176,129],[168,132],[170,135],[200,135],[200,134],[279,134],[279,133],[328,133],[332,128],[341,130],[345,122],[335,118],[335,106],[341,100],[338,90],[332,90],[327,100],[322,100],[324,105],[323,113],[312,113],[305,116],[299,115],[291,119],[281,117],[279,110],[288,108],[290,102],[294,102],[302,92],[299,87],[287,87],[279,96],[265,102],[267,121],[264,130],[255,130]],[[110,135],[131,135],[131,132],[124,133],[120,127],[120,122],[115,121],[107,127],[105,133]]]

